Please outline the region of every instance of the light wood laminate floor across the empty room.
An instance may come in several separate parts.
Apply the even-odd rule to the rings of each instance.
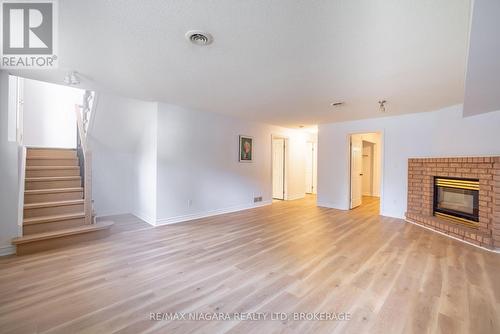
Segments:
[[[0,259],[0,333],[500,333],[500,255],[315,198]],[[151,321],[348,312],[349,321]]]

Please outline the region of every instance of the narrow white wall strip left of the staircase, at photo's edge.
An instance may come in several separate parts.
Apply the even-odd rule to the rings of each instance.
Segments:
[[[0,71],[0,255],[14,252],[11,240],[18,236],[18,150],[8,141],[9,76]]]

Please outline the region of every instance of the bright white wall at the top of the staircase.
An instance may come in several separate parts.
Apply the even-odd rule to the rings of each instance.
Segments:
[[[24,79],[24,145],[76,147],[75,104],[84,90]]]

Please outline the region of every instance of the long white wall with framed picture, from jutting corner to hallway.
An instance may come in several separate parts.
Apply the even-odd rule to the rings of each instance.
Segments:
[[[254,138],[252,163],[238,162],[238,136]],[[305,196],[302,132],[160,104],[158,223],[271,203],[271,136],[289,139],[288,197]],[[262,203],[254,197],[262,196]]]

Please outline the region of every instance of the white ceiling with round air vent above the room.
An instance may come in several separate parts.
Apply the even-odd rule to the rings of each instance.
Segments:
[[[59,71],[24,75],[283,126],[463,102],[469,0],[64,0]],[[199,47],[188,30],[210,32]],[[378,112],[387,99],[387,114]],[[334,109],[332,101],[345,101]]]

